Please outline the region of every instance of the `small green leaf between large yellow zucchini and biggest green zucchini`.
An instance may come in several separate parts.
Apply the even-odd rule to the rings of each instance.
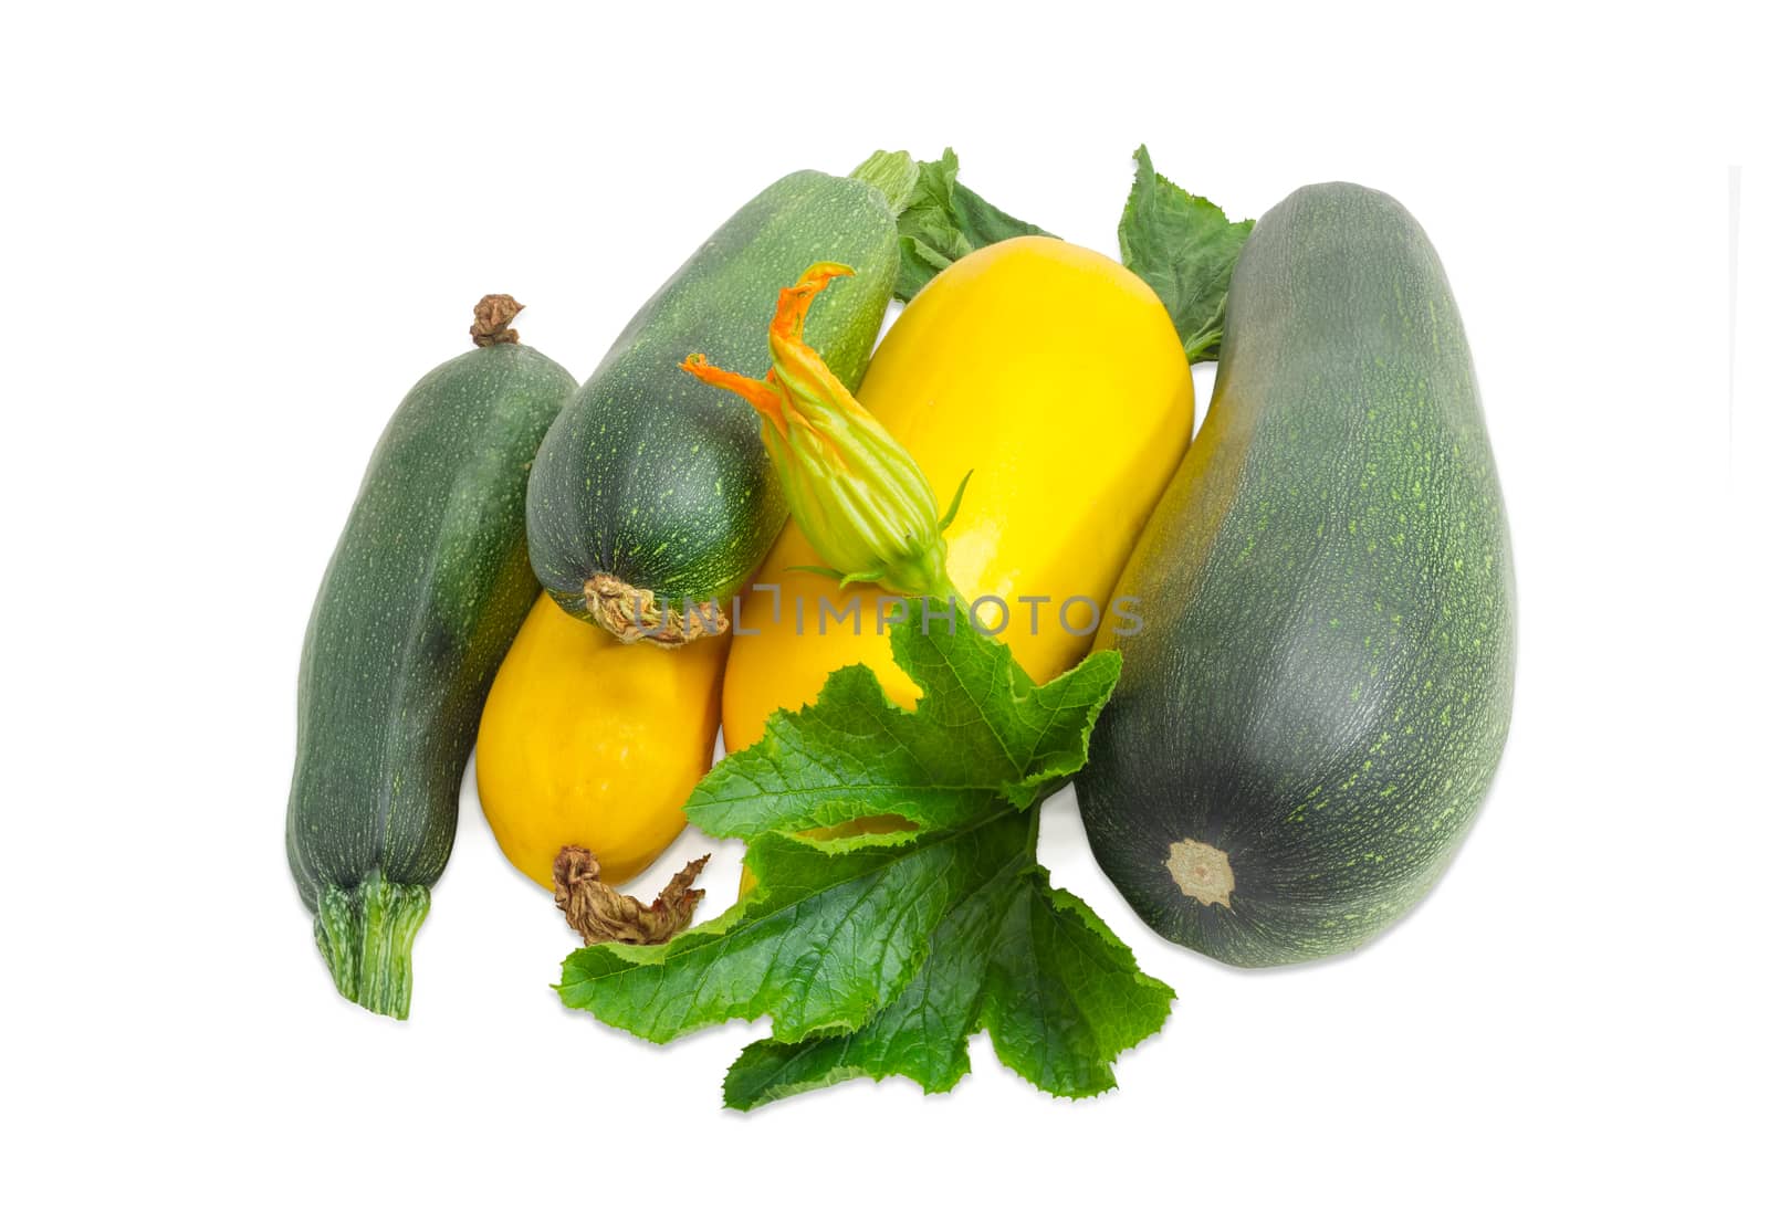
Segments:
[[[1252,221],[1231,223],[1210,200],[1173,186],[1136,150],[1136,180],[1118,221],[1123,265],[1141,276],[1168,307],[1192,364],[1222,346],[1228,281]]]

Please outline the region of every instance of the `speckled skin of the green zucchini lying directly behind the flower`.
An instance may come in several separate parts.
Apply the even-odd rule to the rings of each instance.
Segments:
[[[807,336],[860,382],[897,279],[897,221],[874,187],[805,170],[732,216],[633,316],[559,415],[529,479],[534,574],[578,618],[609,573],[681,610],[725,599],[785,523],[755,412],[678,366],[692,352],[768,371],[780,290],[817,262],[854,276],[817,299]]]

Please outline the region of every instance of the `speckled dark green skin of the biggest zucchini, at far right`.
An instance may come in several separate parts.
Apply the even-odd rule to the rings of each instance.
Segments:
[[[1127,595],[1146,627],[1095,645],[1123,652],[1123,679],[1079,793],[1137,914],[1240,967],[1348,951],[1398,921],[1493,779],[1514,668],[1474,366],[1399,203],[1327,184],[1260,219],[1210,415]],[[1228,853],[1226,905],[1180,889],[1169,859],[1187,839]]]

